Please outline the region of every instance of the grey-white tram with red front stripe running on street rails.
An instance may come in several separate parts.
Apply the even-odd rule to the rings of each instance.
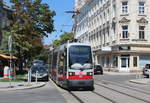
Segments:
[[[66,43],[51,52],[50,77],[63,88],[94,89],[91,46]]]

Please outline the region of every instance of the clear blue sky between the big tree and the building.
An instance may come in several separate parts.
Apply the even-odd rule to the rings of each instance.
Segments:
[[[3,0],[9,4],[9,0]],[[74,0],[42,0],[43,3],[47,3],[51,10],[56,12],[54,17],[54,25],[56,32],[48,34],[48,38],[44,38],[44,44],[52,43],[52,40],[59,39],[59,36],[65,31],[70,32],[72,29],[72,14],[66,14],[67,10],[74,10]],[[66,26],[62,26],[66,25]],[[61,32],[63,31],[63,32]]]

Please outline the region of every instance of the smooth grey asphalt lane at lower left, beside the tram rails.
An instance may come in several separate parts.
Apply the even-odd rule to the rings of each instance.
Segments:
[[[66,103],[56,87],[48,82],[46,86],[18,91],[0,92],[0,103]]]

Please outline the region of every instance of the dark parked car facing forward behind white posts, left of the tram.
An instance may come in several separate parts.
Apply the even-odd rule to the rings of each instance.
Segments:
[[[49,75],[48,71],[44,66],[32,66],[31,67],[31,80],[36,80],[36,73],[37,73],[37,80],[46,80],[48,81]]]

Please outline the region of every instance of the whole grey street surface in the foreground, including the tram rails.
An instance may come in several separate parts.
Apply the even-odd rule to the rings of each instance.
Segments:
[[[57,87],[52,81],[46,86],[18,91],[0,92],[0,103],[147,103],[150,97],[150,85],[130,83],[136,75],[95,75],[95,90],[73,91],[79,102],[70,92]],[[103,82],[105,81],[105,82]],[[115,84],[107,83],[110,81]],[[126,88],[124,87],[126,86]],[[130,88],[127,88],[131,86]],[[132,88],[132,89],[131,89]],[[136,91],[138,89],[140,91]],[[144,95],[144,96],[143,96]],[[135,96],[135,97],[134,97]],[[128,100],[126,102],[126,100]],[[144,101],[145,100],[145,101]]]

